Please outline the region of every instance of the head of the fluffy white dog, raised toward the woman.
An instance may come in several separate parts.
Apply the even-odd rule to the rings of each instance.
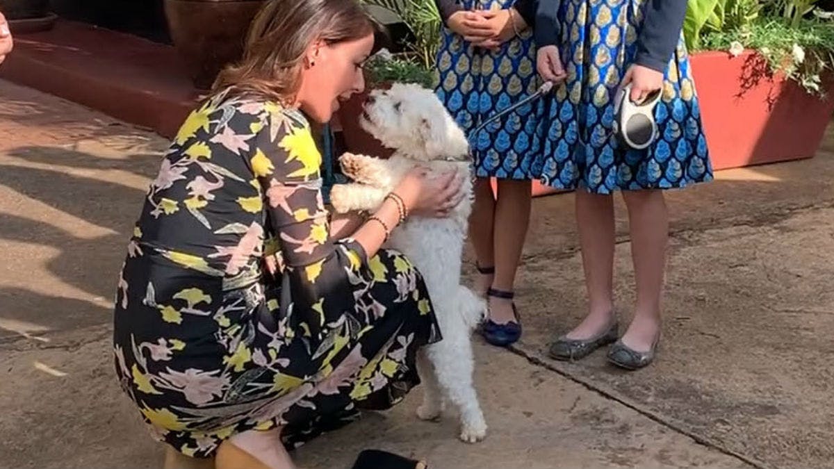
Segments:
[[[415,84],[394,83],[388,90],[372,91],[360,124],[410,159],[469,158],[469,142],[455,119],[435,93]]]

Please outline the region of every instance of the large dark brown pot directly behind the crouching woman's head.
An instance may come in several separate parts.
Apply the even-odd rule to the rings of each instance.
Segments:
[[[165,0],[174,47],[200,89],[211,88],[228,63],[240,58],[249,23],[264,0]]]

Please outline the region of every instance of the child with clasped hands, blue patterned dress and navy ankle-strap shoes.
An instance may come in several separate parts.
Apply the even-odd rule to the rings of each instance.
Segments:
[[[444,20],[437,57],[437,94],[470,134],[495,113],[535,93],[535,0],[435,0]],[[475,204],[470,237],[480,280],[490,300],[482,334],[492,345],[520,338],[513,302],[515,271],[530,220],[530,167],[537,125],[535,107],[523,106],[476,135]],[[497,196],[490,179],[497,179]]]

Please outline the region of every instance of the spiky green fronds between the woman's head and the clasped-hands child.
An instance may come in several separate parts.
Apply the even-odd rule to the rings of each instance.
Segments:
[[[364,3],[396,13],[414,37],[406,44],[409,53],[425,68],[434,67],[443,24],[435,0],[364,0]]]

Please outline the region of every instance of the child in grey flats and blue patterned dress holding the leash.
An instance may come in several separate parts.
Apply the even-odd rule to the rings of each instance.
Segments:
[[[535,19],[542,78],[563,82],[545,103],[535,171],[545,184],[576,189],[589,312],[550,346],[577,360],[615,344],[611,363],[634,370],[651,363],[661,333],[661,290],[668,215],[662,189],[712,179],[681,28],[686,0],[540,0]],[[644,150],[626,149],[613,132],[614,101],[631,85],[640,103],[661,90],[658,134]],[[621,191],[631,226],[637,300],[619,340],[614,313],[614,205]]]

